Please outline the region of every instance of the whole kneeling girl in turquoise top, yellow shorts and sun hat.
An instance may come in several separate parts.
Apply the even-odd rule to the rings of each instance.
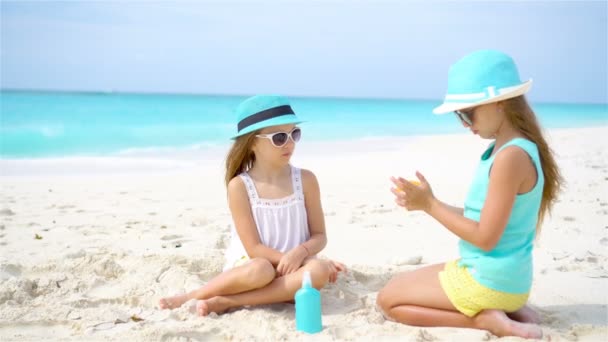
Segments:
[[[523,95],[531,83],[521,82],[513,60],[494,50],[471,53],[450,68],[444,103],[433,112],[454,112],[474,134],[493,141],[464,208],[436,199],[420,173],[420,184],[392,179],[398,205],[425,211],[461,240],[458,260],[397,275],[379,292],[387,318],[542,336],[538,315],[526,305],[532,249],[562,178]]]

